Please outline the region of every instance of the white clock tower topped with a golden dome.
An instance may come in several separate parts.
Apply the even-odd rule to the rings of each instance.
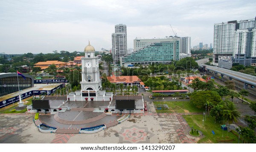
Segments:
[[[82,81],[81,83],[81,95],[82,97],[90,97],[87,99],[93,99],[97,97],[99,90],[102,87],[101,79],[99,75],[99,61],[98,57],[94,56],[95,49],[89,44],[84,48],[85,56],[81,57],[82,61]]]

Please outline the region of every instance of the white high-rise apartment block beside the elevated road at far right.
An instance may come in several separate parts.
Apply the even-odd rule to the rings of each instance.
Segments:
[[[256,57],[255,22],[254,18],[214,24],[213,61],[215,65],[218,65],[218,60],[233,60],[244,65],[250,65],[253,62],[253,58]]]

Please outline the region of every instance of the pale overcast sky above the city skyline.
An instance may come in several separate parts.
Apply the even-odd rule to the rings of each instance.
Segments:
[[[213,43],[215,23],[252,19],[256,0],[0,0],[0,53],[111,49],[116,24],[138,38],[191,37]],[[172,31],[172,28],[174,32]]]

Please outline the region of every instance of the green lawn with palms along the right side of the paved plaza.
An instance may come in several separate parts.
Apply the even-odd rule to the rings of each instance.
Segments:
[[[205,112],[205,109],[198,109],[193,106],[189,101],[168,101],[168,102],[160,102],[155,101],[154,105],[163,105],[167,104],[169,109],[161,109],[157,110],[157,113],[187,113],[187,112]],[[208,112],[207,112],[208,114]],[[198,143],[238,143],[238,137],[234,135],[232,132],[227,132],[227,130],[221,129],[221,123],[215,124],[215,118],[207,115],[206,120],[203,125],[203,115],[183,115],[183,118],[189,124],[189,126],[196,130],[202,132],[203,137]],[[215,135],[213,135],[215,132]]]

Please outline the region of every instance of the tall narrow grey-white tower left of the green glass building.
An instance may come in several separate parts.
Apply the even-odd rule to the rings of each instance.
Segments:
[[[115,33],[112,33],[112,50],[114,63],[120,61],[120,57],[127,54],[127,32],[126,25],[115,26]]]

